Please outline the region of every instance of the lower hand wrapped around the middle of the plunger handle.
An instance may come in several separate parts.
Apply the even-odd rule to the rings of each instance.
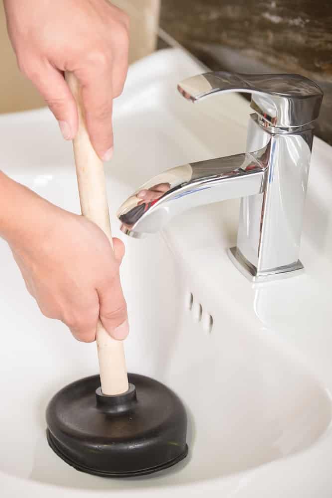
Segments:
[[[22,203],[24,212],[13,206],[18,215],[9,217],[16,222],[0,235],[7,239],[41,312],[63,321],[79,341],[95,340],[99,317],[114,339],[124,339],[128,321],[119,278],[122,242],[113,239],[113,252],[97,225],[8,182],[15,204]]]

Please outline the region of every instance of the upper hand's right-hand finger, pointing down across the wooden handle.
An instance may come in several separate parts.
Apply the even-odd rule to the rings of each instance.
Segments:
[[[81,84],[91,143],[99,157],[108,161],[113,152],[111,60],[103,54],[95,57],[83,69],[75,71],[75,75]]]

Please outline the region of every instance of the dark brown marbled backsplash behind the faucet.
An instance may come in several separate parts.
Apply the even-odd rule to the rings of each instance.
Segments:
[[[161,0],[160,24],[212,70],[316,81],[316,134],[332,144],[332,0]]]

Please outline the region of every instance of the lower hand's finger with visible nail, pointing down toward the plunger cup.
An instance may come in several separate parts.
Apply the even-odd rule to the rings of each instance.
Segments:
[[[98,289],[98,295],[99,316],[105,329],[114,339],[125,339],[129,332],[129,324],[119,274]]]

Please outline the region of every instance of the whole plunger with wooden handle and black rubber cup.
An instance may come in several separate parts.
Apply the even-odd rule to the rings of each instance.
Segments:
[[[112,244],[103,163],[86,130],[78,81],[72,73],[66,79],[79,111],[73,145],[82,214]],[[100,375],[65,386],[47,406],[50,447],[77,470],[104,477],[151,474],[185,458],[187,415],[179,397],[157,380],[127,375],[123,342],[101,321],[96,342]]]

